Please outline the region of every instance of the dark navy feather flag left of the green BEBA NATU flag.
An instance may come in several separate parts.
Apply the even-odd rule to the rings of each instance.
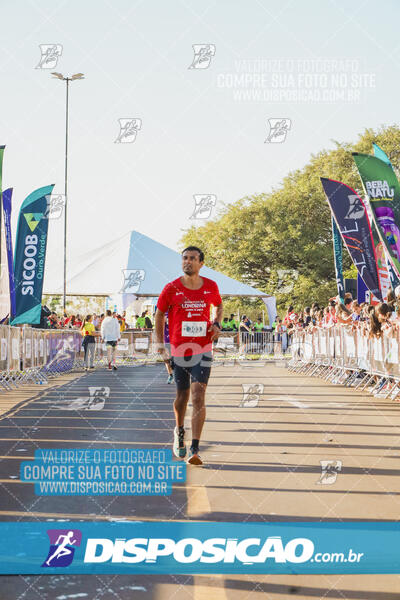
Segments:
[[[362,198],[349,186],[321,177],[343,242],[368,289],[382,301],[371,225]]]

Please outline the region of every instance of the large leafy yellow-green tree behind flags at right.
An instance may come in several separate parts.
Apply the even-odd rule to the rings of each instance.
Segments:
[[[333,141],[332,150],[312,155],[272,192],[224,205],[215,220],[185,231],[182,248],[201,247],[207,266],[275,295],[281,311],[289,303],[297,308],[313,301],[324,305],[337,291],[330,210],[320,177],[342,181],[363,194],[351,152],[372,154],[372,142],[398,172],[400,128],[366,129],[353,144]],[[346,250],[343,259],[344,269],[349,269]],[[241,302],[242,312],[245,306]]]

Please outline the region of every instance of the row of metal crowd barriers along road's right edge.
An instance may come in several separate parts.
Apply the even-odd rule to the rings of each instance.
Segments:
[[[380,338],[345,326],[296,331],[288,368],[395,399],[400,393],[399,347],[400,333],[390,330]]]

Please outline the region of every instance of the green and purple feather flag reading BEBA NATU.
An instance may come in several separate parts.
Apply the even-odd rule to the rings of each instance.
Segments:
[[[353,152],[365,193],[379,233],[400,278],[400,185],[393,168],[386,161]]]

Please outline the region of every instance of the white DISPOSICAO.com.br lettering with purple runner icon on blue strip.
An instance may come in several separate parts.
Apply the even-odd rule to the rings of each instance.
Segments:
[[[146,527],[147,528],[147,527]],[[173,572],[176,567],[185,567],[186,571],[224,572],[226,568],[237,567],[240,572],[246,572],[253,565],[257,570],[261,565],[268,568],[276,567],[280,572],[291,572],[296,565],[300,570],[302,563],[310,563],[308,569],[318,572],[324,566],[339,568],[344,563],[360,564],[363,552],[352,548],[338,551],[337,548],[327,552],[315,552],[314,542],[305,537],[282,538],[279,535],[261,537],[174,537],[149,536],[144,533],[146,528],[139,526],[143,537],[87,537],[82,542],[82,531],[79,529],[50,529],[47,535],[50,548],[42,567],[68,567],[78,552],[74,568],[93,565],[104,572],[116,572],[117,565],[134,567],[152,564],[153,572]],[[221,531],[221,529],[220,529]],[[86,536],[85,536],[86,537]],[[83,545],[78,550],[78,546]],[[311,565],[314,563],[314,565]],[[287,571],[282,567],[287,565]],[[191,566],[190,566],[191,565]],[[351,565],[349,565],[351,567]],[[155,570],[154,570],[155,569]],[[245,571],[243,571],[245,569]],[[95,569],[96,570],[96,569]],[[103,572],[103,571],[102,571]],[[117,570],[118,572],[118,570]],[[141,572],[141,571],[139,571]],[[143,571],[144,572],[144,571]],[[233,571],[232,571],[233,572]]]

